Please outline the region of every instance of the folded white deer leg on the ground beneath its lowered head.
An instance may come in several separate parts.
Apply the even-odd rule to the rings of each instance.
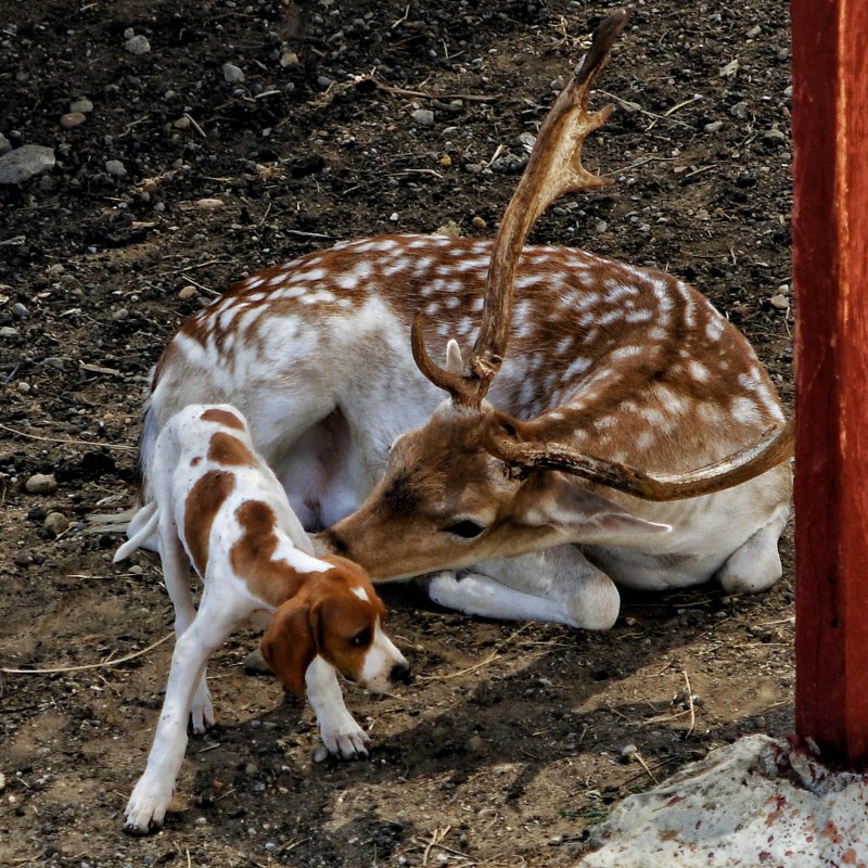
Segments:
[[[465,614],[591,630],[609,629],[621,607],[612,579],[574,546],[487,561],[476,572],[437,573],[427,593]]]

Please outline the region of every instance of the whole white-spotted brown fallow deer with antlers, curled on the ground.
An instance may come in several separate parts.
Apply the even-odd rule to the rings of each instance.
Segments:
[[[604,629],[613,582],[771,585],[793,435],[748,341],[666,273],[523,247],[560,194],[608,183],[580,152],[612,111],[587,99],[627,14],[558,98],[494,245],[342,243],[193,316],[154,372],[145,480],[173,413],[228,401],[321,550],[425,574],[447,607]]]

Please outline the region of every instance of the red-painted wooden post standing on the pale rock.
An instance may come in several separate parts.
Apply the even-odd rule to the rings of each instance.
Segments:
[[[868,768],[868,2],[791,0],[795,726]]]

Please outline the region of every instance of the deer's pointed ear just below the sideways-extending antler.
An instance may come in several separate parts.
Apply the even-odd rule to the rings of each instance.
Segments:
[[[626,542],[638,534],[666,534],[668,524],[634,515],[609,498],[588,490],[579,481],[548,471],[525,483],[533,505],[525,513],[529,524],[557,527],[572,542]],[[536,489],[531,492],[529,489]]]

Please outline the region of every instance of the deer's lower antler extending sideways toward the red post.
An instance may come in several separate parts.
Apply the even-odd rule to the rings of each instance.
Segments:
[[[720,461],[686,473],[665,474],[592,458],[563,444],[521,443],[497,436],[494,425],[487,427],[483,443],[492,455],[514,467],[560,470],[642,500],[682,500],[741,485],[792,458],[795,426],[790,419],[783,427],[769,430],[762,439]]]

